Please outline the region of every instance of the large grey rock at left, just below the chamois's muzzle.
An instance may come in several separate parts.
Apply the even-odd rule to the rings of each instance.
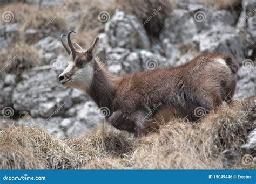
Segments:
[[[71,89],[58,83],[54,70],[37,67],[24,72],[22,78],[12,96],[16,110],[28,111],[33,117],[48,117],[53,112],[63,114],[71,107]]]

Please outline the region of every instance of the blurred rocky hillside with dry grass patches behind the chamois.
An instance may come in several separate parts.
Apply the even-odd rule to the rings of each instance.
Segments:
[[[256,1],[0,1],[0,129],[39,126],[75,138],[103,122],[82,91],[57,76],[69,56],[60,34],[98,56],[112,72],[177,67],[205,52],[239,63],[235,100],[256,94]]]

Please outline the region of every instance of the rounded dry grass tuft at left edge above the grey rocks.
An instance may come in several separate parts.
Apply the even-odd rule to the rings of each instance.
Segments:
[[[0,69],[4,73],[21,74],[25,69],[40,66],[42,63],[42,53],[23,42],[10,44],[6,51],[0,53]]]

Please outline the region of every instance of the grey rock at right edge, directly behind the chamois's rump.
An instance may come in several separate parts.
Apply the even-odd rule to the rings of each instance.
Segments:
[[[255,64],[254,64],[255,65]],[[256,69],[240,67],[238,70],[237,89],[235,90],[234,99],[244,100],[256,95]]]

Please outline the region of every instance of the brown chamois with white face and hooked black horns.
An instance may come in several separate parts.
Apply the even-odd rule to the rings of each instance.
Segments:
[[[109,123],[134,133],[135,138],[152,130],[158,111],[170,108],[195,121],[197,108],[207,112],[232,100],[238,65],[230,56],[203,54],[176,68],[115,75],[95,56],[99,38],[84,50],[72,44],[73,32],[61,36],[71,61],[59,75],[60,83],[85,91],[99,108],[109,110]]]

